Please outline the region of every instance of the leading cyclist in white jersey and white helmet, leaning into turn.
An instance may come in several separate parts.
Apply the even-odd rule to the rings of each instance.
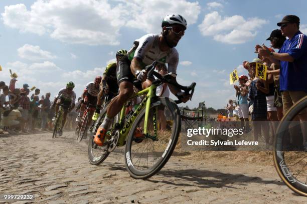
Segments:
[[[168,63],[168,72],[176,72],[179,55],[175,48],[187,28],[187,21],[179,14],[169,14],[162,21],[162,34],[146,34],[136,39],[128,56],[123,56],[116,67],[119,94],[110,102],[106,116],[97,129],[94,141],[102,146],[107,127],[112,118],[120,111],[122,105],[133,94],[133,80],[136,78],[142,82],[142,88],[151,85],[151,80],[146,79],[145,65],[157,60],[160,63]],[[182,101],[190,99],[179,88],[169,85],[175,95],[181,95]]]

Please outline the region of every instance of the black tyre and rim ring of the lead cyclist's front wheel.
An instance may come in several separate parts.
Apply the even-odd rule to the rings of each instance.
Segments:
[[[145,171],[140,171],[133,167],[133,164],[130,159],[131,157],[130,148],[131,148],[131,143],[133,141],[134,129],[136,128],[138,121],[145,114],[145,108],[143,108],[141,112],[137,115],[137,117],[135,118],[135,121],[133,122],[131,126],[131,129],[127,136],[126,148],[125,148],[125,165],[126,165],[126,168],[130,176],[135,179],[146,179],[146,178],[149,178],[155,175],[157,172],[159,172],[163,168],[163,166],[168,162],[169,158],[171,157],[176,147],[178,138],[179,138],[179,133],[181,130],[181,116],[180,116],[180,110],[177,104],[174,102],[174,100],[168,97],[159,97],[158,100],[161,101],[161,104],[170,108],[170,110],[172,110],[171,111],[172,114],[174,114],[173,115],[173,121],[174,121],[173,125],[175,125],[175,128],[174,128],[174,131],[172,132],[172,136],[170,137],[172,141],[170,140],[171,143],[169,142],[169,146],[165,150],[166,151],[165,156],[159,159],[161,161],[159,163],[157,162],[155,167],[149,168],[149,170],[145,170]]]

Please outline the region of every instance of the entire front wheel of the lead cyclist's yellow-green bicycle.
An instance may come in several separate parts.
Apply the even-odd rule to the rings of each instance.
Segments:
[[[155,175],[171,157],[180,133],[180,110],[172,99],[159,97],[150,105],[146,134],[142,133],[144,123],[145,108],[135,118],[126,141],[126,167],[137,179]]]

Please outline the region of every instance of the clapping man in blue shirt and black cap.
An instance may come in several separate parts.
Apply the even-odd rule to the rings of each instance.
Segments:
[[[270,60],[280,64],[279,84],[282,91],[284,114],[300,98],[307,95],[307,36],[299,31],[299,17],[286,15],[280,26],[282,35],[288,37],[278,53],[270,51],[267,47],[259,48],[258,53],[270,57]],[[299,115],[301,121],[307,120],[307,114]],[[307,129],[302,125],[304,134],[303,144],[307,148]]]

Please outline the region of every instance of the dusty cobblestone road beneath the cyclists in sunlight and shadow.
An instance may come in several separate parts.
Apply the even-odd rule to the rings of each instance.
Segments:
[[[172,156],[158,175],[135,180],[120,149],[91,165],[72,132],[0,135],[0,194],[12,192],[34,193],[34,203],[306,203],[271,165],[248,161]]]

